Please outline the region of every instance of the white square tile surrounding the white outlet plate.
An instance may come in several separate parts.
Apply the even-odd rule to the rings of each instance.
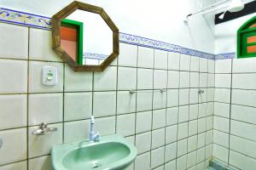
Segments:
[[[44,66],[53,66],[57,68],[58,82],[54,86],[46,86],[42,83],[42,69]],[[29,92],[63,92],[63,64],[54,62],[29,62]]]

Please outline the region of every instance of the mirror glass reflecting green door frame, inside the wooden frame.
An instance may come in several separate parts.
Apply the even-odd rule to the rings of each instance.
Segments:
[[[61,20],[60,38],[78,65],[101,65],[113,52],[113,31],[100,14],[75,10]]]

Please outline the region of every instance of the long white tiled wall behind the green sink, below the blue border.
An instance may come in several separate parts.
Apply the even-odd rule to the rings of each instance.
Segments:
[[[129,169],[208,166],[212,123],[221,117],[212,117],[213,60],[120,43],[117,65],[103,72],[74,72],[53,53],[50,31],[8,24],[0,29],[0,44],[8,40],[0,46],[1,170],[51,169],[51,146],[86,139],[92,114],[102,135],[120,133],[137,146]],[[58,68],[54,87],[41,83],[45,65]],[[228,103],[225,76],[218,79],[223,87],[216,95]],[[199,88],[204,94],[198,94]],[[57,133],[33,136],[41,122],[58,127]]]

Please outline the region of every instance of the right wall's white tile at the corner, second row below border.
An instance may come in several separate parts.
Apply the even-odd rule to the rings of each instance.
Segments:
[[[233,79],[233,81],[235,81],[235,80]],[[230,84],[231,84],[231,74],[215,74],[215,87],[216,88],[230,88]],[[234,83],[234,85],[235,84],[236,83]],[[235,87],[233,87],[233,88],[235,88]]]

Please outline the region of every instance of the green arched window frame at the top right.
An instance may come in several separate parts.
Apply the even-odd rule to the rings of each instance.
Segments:
[[[247,48],[250,46],[256,47],[255,42],[247,42],[248,37],[256,37],[256,27],[250,27],[256,24],[256,16],[247,20],[237,31],[237,58],[256,57],[256,52],[248,53]]]

